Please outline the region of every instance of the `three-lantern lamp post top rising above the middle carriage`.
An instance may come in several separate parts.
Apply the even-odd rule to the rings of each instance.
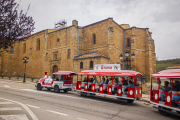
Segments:
[[[131,59],[129,59],[128,58],[128,56],[129,56],[129,51],[126,51],[125,52],[125,59],[123,60],[123,55],[121,54],[121,55],[119,55],[119,58],[120,58],[120,60],[121,60],[121,62],[127,62],[127,65],[126,65],[126,70],[128,70],[128,62],[131,62],[131,61],[133,61],[134,59],[135,59],[135,54],[133,53],[133,54],[131,54]]]

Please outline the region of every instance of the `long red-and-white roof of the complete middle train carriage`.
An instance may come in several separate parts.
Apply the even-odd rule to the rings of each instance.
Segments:
[[[83,70],[77,74],[98,76],[142,76],[140,72],[132,70]]]

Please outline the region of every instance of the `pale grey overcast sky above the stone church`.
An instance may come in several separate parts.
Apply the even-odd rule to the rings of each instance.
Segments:
[[[19,2],[20,0],[16,0]],[[180,0],[21,0],[20,9],[35,23],[34,32],[65,19],[86,26],[112,17],[118,24],[149,28],[159,60],[180,58]]]

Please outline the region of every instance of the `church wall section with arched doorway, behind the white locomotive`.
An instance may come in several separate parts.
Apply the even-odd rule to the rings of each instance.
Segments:
[[[71,26],[47,34],[44,64],[45,70],[49,74],[53,73],[55,65],[58,67],[58,70],[73,71],[73,59],[77,55],[77,32],[78,29],[75,26]]]

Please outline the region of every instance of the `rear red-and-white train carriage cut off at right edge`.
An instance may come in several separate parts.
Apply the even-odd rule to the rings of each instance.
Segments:
[[[152,84],[153,79],[156,83]],[[164,86],[161,84],[164,83]],[[162,115],[180,116],[180,69],[168,69],[151,75],[150,102]],[[176,111],[177,113],[175,113]]]

